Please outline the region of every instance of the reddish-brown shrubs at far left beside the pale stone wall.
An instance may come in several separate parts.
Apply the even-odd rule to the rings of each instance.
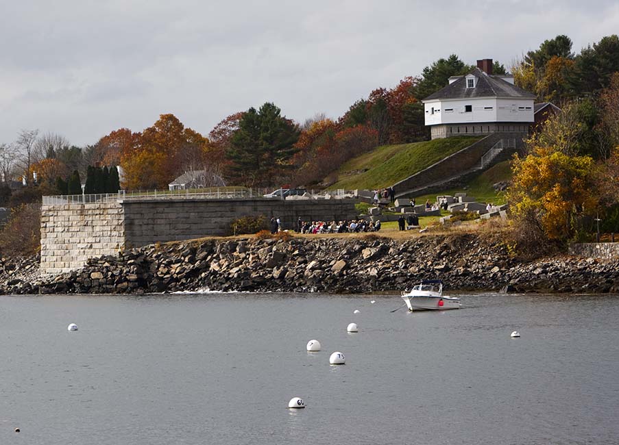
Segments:
[[[0,232],[0,253],[8,257],[34,255],[41,244],[41,207],[23,204],[14,207]]]

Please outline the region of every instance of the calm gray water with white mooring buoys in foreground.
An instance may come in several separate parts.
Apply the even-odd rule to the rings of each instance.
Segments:
[[[618,297],[462,298],[2,296],[0,444],[619,443]]]

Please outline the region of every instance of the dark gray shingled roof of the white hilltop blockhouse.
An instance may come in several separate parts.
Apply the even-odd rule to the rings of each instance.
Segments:
[[[475,88],[466,88],[466,77],[462,76],[452,84],[441,88],[437,92],[430,94],[424,101],[432,99],[474,99],[476,97],[518,97],[523,99],[535,99],[535,94],[531,94],[522,88],[510,84],[500,78],[500,76],[489,76],[481,69],[475,68],[470,74],[477,77]]]

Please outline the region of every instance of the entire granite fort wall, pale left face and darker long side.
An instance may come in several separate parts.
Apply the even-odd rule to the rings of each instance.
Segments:
[[[225,236],[241,216],[279,217],[283,229],[302,220],[354,218],[354,200],[141,199],[113,203],[43,205],[41,273],[82,268],[86,260],[125,247]]]

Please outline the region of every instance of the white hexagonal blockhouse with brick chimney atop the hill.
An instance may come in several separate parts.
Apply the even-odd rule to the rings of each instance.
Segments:
[[[448,86],[422,102],[425,123],[437,139],[489,133],[524,136],[535,121],[534,101],[535,94],[515,86],[511,75],[493,75],[492,59],[483,59],[467,75],[450,77]]]

